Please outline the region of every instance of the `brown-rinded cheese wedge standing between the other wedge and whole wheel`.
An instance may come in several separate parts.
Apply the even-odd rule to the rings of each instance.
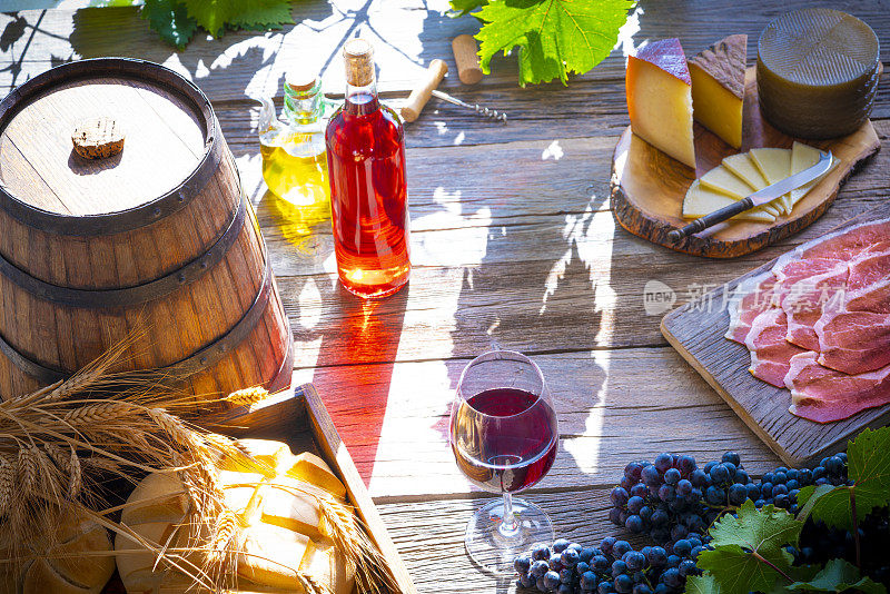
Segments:
[[[722,39],[690,58],[692,116],[734,148],[742,147],[748,36]]]

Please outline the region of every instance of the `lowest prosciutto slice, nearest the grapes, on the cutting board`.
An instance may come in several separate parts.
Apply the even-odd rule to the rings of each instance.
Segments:
[[[801,353],[791,357],[785,387],[791,390],[790,413],[830,423],[890,403],[890,365],[848,375],[819,365],[815,353]]]

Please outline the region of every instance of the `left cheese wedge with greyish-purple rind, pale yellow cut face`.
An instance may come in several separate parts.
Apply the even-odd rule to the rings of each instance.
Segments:
[[[692,79],[678,39],[653,41],[627,58],[625,89],[633,133],[695,168]]]

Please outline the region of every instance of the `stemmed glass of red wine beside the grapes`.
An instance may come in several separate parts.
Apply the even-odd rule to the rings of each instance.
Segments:
[[[556,413],[541,369],[511,350],[479,355],[457,383],[449,427],[461,471],[481,488],[504,495],[469,519],[467,553],[483,570],[512,572],[516,555],[553,541],[547,514],[513,498],[541,481],[556,457]]]

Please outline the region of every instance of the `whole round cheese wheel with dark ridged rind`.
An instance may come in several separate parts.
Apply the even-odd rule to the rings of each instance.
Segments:
[[[758,92],[767,119],[790,136],[835,138],[868,119],[880,70],[878,37],[828,8],[788,12],[758,40]]]

